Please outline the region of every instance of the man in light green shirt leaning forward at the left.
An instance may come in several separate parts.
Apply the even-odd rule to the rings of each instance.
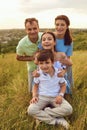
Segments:
[[[36,69],[34,64],[34,53],[38,50],[38,44],[41,39],[39,24],[36,18],[25,19],[26,36],[22,38],[16,48],[17,60],[27,61],[28,68],[28,90],[32,91],[32,72]]]

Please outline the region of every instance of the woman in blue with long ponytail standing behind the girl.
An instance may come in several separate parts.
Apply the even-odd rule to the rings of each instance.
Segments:
[[[73,52],[73,42],[69,30],[70,20],[65,15],[59,15],[55,18],[55,36],[56,36],[56,46],[55,49],[58,52],[64,52],[67,55],[67,58],[70,59],[70,56]],[[72,78],[72,67],[68,67],[67,76],[68,79],[68,90],[67,94],[72,93],[71,87],[73,86]]]

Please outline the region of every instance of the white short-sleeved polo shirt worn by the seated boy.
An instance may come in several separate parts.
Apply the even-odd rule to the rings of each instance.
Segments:
[[[38,70],[40,76],[34,78],[34,82],[39,84],[38,94],[44,96],[56,97],[60,92],[60,83],[66,83],[64,77],[58,77],[58,68],[54,67],[54,75],[51,77],[47,73],[43,73],[41,69]]]

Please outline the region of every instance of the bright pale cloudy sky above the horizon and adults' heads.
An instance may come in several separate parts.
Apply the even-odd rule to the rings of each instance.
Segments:
[[[0,29],[24,28],[35,17],[40,28],[54,28],[58,15],[67,15],[70,28],[87,29],[87,0],[0,0]]]

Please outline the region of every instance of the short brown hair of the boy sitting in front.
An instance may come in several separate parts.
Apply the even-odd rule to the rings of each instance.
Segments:
[[[51,50],[40,50],[38,52],[37,56],[38,61],[47,61],[48,59],[54,62],[54,54]]]

